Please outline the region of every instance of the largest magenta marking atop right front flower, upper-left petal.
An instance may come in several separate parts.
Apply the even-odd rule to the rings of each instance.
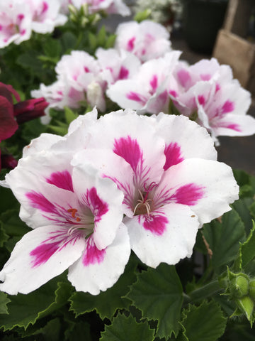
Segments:
[[[142,161],[142,151],[136,139],[128,137],[121,137],[114,141],[113,153],[130,164],[132,170],[135,171],[138,163]]]

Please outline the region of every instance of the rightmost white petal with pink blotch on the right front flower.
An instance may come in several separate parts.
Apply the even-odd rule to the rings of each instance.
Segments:
[[[155,190],[155,205],[176,202],[191,206],[201,224],[231,210],[239,187],[232,169],[211,160],[190,158],[172,166]]]

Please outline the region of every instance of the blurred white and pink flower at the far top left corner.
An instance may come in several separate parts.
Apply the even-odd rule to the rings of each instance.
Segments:
[[[20,44],[31,35],[30,7],[22,0],[5,0],[0,4],[0,48]]]

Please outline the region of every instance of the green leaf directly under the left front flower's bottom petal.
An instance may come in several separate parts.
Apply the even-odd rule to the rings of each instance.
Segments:
[[[135,267],[136,263],[130,257],[124,274],[120,276],[114,286],[99,293],[99,295],[94,296],[82,292],[74,293],[70,298],[70,310],[73,310],[77,317],[96,309],[102,320],[104,318],[111,319],[117,309],[127,308],[131,303],[128,298],[123,296],[128,293],[128,286],[136,279]]]

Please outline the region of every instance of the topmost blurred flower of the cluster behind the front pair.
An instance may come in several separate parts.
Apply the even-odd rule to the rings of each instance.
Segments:
[[[171,50],[169,32],[153,21],[120,23],[116,35],[115,48],[133,53],[142,62],[162,57]]]

